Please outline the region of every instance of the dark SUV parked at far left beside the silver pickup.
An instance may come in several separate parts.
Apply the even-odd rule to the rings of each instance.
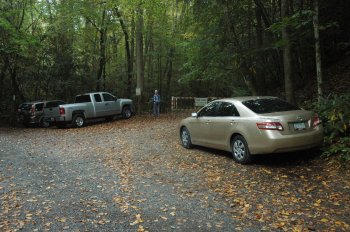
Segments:
[[[18,106],[17,122],[25,125],[39,125],[49,127],[50,122],[46,120],[46,114],[58,110],[59,105],[66,104],[61,100],[25,102]]]

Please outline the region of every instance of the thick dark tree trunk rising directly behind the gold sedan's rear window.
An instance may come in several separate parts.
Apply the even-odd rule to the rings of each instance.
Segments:
[[[281,1],[282,20],[289,16],[288,0]],[[289,27],[284,25],[282,28],[282,39],[286,42],[283,48],[283,67],[284,67],[284,85],[286,92],[286,100],[295,104],[294,88],[293,88],[293,63],[292,63],[292,47],[289,36]]]

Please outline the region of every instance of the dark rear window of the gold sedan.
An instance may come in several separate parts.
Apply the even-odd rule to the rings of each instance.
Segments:
[[[299,107],[285,102],[279,98],[255,99],[244,101],[242,104],[257,114],[300,110]]]

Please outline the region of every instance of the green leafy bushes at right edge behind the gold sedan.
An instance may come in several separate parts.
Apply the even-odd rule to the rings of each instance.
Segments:
[[[323,98],[316,106],[325,132],[324,155],[350,161],[350,93]]]

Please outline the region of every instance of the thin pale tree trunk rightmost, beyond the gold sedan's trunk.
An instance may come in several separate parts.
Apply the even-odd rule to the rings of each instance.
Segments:
[[[314,0],[314,36],[315,36],[315,55],[316,55],[316,74],[317,74],[317,94],[318,101],[320,102],[323,95],[323,78],[322,78],[322,66],[321,66],[321,50],[320,50],[320,34],[318,24],[318,0]]]

